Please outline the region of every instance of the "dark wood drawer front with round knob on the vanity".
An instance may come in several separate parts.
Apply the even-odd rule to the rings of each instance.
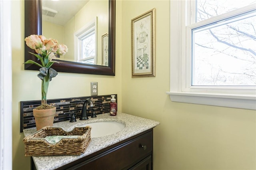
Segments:
[[[77,164],[75,169],[128,169],[152,154],[152,141],[153,134],[151,131]]]

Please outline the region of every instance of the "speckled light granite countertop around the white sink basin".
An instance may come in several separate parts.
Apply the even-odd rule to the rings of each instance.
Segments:
[[[69,121],[54,123],[53,127],[62,127],[66,131],[71,131],[75,126],[83,125],[85,123],[94,123],[98,121],[117,121],[123,123],[125,125],[125,128],[115,134],[92,138],[85,152],[79,156],[32,156],[36,168],[38,170],[54,170],[56,168],[64,166],[65,164],[92,154],[98,150],[111,146],[112,144],[118,143],[122,140],[125,140],[150,128],[156,127],[157,125],[160,125],[160,123],[157,121],[128,115],[126,113],[118,113],[117,116],[110,116],[109,113],[105,113],[97,115],[96,118],[89,117],[89,119],[85,121],[80,121],[79,119],[76,119],[76,122],[74,123],[70,123]],[[36,128],[24,129],[23,132],[25,136],[32,135],[36,132]]]

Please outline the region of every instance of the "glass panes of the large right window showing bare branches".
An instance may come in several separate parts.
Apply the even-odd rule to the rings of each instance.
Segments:
[[[219,2],[219,3],[216,3]],[[246,5],[197,0],[197,22]],[[247,0],[247,5],[255,0]],[[192,30],[192,85],[256,85],[256,12]]]

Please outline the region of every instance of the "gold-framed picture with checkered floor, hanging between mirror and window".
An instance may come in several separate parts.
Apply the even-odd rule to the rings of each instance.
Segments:
[[[155,77],[155,8],[132,19],[132,77]]]

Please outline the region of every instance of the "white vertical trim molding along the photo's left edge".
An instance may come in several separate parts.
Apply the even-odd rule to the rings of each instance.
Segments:
[[[0,170],[12,169],[11,1],[0,0]]]

